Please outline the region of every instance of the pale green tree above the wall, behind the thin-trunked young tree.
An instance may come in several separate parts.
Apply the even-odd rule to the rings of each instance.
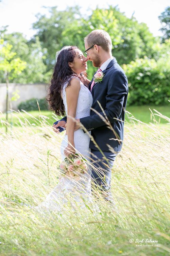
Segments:
[[[20,84],[49,82],[46,65],[43,62],[46,58],[46,49],[41,47],[39,38],[35,37],[34,42],[28,42],[22,33],[9,34],[6,29],[7,26],[1,28],[1,38],[13,46],[16,57],[27,62],[23,72],[19,76],[13,77],[11,82]],[[1,82],[5,82],[3,76],[1,77]]]

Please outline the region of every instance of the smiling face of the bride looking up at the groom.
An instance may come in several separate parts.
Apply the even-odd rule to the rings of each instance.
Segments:
[[[73,62],[69,62],[69,66],[77,74],[80,74],[82,71],[87,70],[87,58],[83,55],[83,53],[79,49],[75,49],[76,56]]]

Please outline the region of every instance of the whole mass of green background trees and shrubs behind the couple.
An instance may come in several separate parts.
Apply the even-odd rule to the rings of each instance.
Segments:
[[[55,65],[55,53],[64,45],[77,45],[84,51],[84,37],[94,29],[104,29],[112,38],[113,56],[123,67],[129,80],[129,105],[168,104],[170,95],[170,8],[159,16],[163,37],[154,37],[145,23],[128,18],[118,7],[96,8],[82,17],[79,6],[59,11],[47,8],[49,15],[36,15],[34,36],[27,40],[22,33],[7,33],[2,27],[0,36],[12,45],[12,51],[27,63],[26,68],[10,82],[49,83]],[[88,62],[88,76],[95,68]],[[13,71],[11,71],[13,72]],[[0,71],[1,83],[5,82]]]

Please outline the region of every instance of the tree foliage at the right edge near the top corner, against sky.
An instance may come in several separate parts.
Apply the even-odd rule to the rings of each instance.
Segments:
[[[165,42],[166,39],[170,38],[170,6],[158,18],[162,24],[162,28],[160,28],[160,31],[163,32],[162,41]]]

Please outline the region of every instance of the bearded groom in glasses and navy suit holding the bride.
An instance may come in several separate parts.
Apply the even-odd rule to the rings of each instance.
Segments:
[[[77,119],[75,130],[83,129],[84,126],[87,131],[91,131],[95,142],[91,140],[89,147],[91,161],[96,167],[92,169],[91,178],[105,200],[114,204],[110,191],[111,170],[122,147],[128,80],[112,56],[112,41],[107,32],[93,30],[85,37],[84,42],[88,60],[99,69],[89,84],[93,96],[90,116]],[[65,127],[66,120],[64,117],[55,122],[53,127],[57,130],[59,126]]]

